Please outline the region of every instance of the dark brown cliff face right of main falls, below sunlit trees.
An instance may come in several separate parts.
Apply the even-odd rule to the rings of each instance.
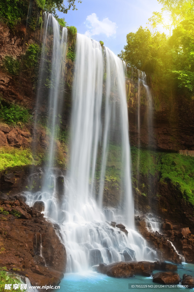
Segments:
[[[166,100],[160,92],[152,92],[152,78],[147,77],[147,84],[152,95],[153,127],[149,129],[147,94],[143,84],[138,84],[136,69],[130,72],[126,82],[130,142],[138,146],[138,92],[140,91],[140,146],[157,150],[194,150],[193,122],[194,102],[182,96]],[[150,133],[151,131],[151,133]],[[153,132],[152,132],[153,131]]]

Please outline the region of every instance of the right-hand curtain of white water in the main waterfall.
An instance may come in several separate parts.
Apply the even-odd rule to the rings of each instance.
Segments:
[[[122,61],[108,48],[105,48],[104,53],[106,60],[106,103],[99,202],[100,206],[102,206],[108,147],[110,144],[120,145],[122,152],[120,161],[122,191],[118,211],[120,215],[122,214],[124,223],[133,228],[134,205],[131,190],[129,127],[124,66]],[[124,194],[123,197],[122,194]]]

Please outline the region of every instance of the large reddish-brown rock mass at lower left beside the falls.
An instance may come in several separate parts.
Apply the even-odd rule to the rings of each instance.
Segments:
[[[58,285],[66,266],[58,225],[45,220],[20,195],[4,199],[1,195],[0,205],[4,209],[0,214],[0,265],[28,277],[32,285]]]

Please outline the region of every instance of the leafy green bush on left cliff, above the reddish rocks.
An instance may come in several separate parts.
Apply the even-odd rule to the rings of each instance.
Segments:
[[[20,107],[19,105],[4,106],[0,103],[0,118],[7,124],[15,125],[16,122],[21,121],[27,123],[29,120],[29,109]]]

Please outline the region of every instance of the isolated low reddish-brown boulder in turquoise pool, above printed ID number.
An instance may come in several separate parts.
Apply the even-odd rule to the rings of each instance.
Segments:
[[[161,284],[179,284],[181,278],[175,272],[159,272],[154,274],[153,282]]]

